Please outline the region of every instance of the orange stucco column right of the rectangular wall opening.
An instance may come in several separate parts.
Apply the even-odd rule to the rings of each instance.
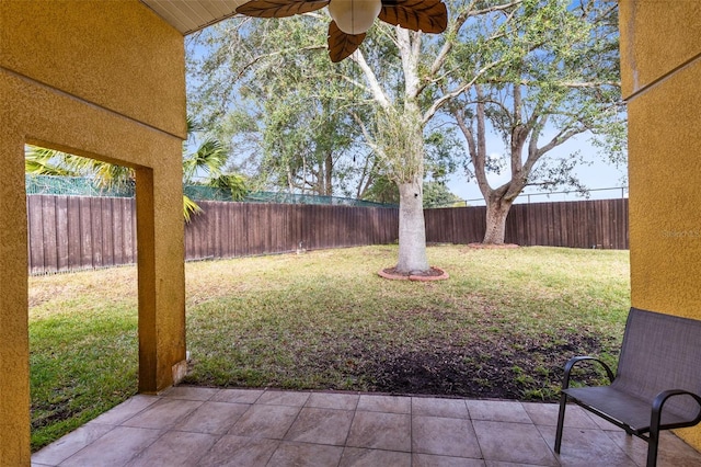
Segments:
[[[181,170],[137,169],[139,392],[158,392],[177,383],[187,366],[182,185],[158,180],[182,179]]]

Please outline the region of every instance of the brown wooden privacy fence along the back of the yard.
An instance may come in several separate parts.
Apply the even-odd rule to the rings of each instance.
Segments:
[[[133,198],[27,196],[30,273],[136,262]],[[199,202],[185,228],[187,260],[235,258],[397,241],[399,209]],[[426,240],[479,242],[485,207],[426,209]],[[506,241],[521,246],[628,249],[628,200],[518,204]]]

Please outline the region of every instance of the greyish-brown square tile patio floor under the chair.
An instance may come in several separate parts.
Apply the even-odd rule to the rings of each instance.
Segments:
[[[643,466],[647,445],[578,407],[180,386],[136,396],[32,457],[33,466]],[[669,432],[660,467],[701,466]]]

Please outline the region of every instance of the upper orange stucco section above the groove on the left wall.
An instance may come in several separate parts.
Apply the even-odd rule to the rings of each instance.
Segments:
[[[99,3],[3,1],[0,62],[184,137],[182,35],[136,0]]]

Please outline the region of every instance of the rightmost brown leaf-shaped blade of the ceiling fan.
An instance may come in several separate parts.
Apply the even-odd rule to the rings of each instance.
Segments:
[[[448,27],[448,10],[441,0],[383,0],[378,18],[425,33],[443,33]]]

